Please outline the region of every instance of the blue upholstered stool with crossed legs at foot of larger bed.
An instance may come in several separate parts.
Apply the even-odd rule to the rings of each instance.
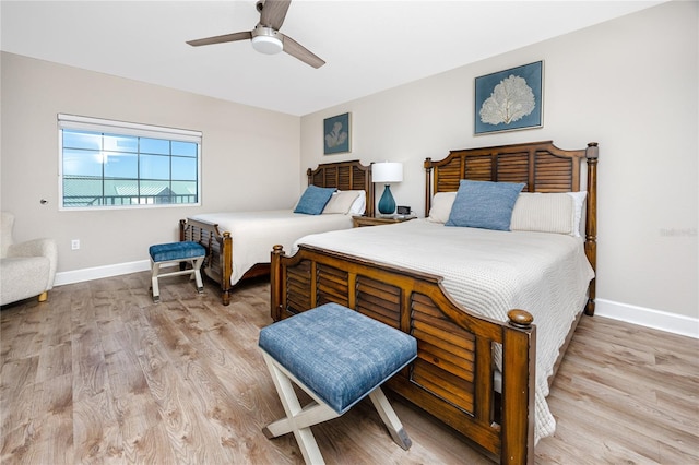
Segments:
[[[368,395],[393,440],[411,446],[380,385],[415,359],[413,336],[325,303],[264,327],[259,345],[286,412],[264,428],[268,438],[294,432],[306,463],[323,463],[310,427],[340,417]],[[292,381],[313,398],[311,405],[300,406]]]

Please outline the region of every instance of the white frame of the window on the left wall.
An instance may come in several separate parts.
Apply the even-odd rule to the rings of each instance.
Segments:
[[[96,206],[66,206],[64,191],[63,191],[63,130],[85,131],[85,132],[102,132],[114,135],[135,136],[135,138],[151,138],[161,139],[176,142],[193,142],[197,144],[197,202],[192,203],[138,203],[130,205],[105,205],[99,204]],[[202,139],[201,131],[194,131],[189,129],[168,128],[162,126],[143,124],[135,122],[109,120],[103,118],[84,117],[68,114],[58,114],[58,210],[63,212],[80,212],[80,211],[104,211],[104,210],[132,210],[132,208],[168,208],[168,207],[187,207],[187,206],[201,206],[201,184],[202,184]],[[139,151],[140,155],[140,151]],[[173,154],[168,155],[171,159]],[[167,181],[171,184],[173,172],[170,171]],[[104,171],[102,175],[102,182],[105,182]],[[140,172],[137,175],[135,181],[141,182]],[[104,196],[104,195],[103,195]]]

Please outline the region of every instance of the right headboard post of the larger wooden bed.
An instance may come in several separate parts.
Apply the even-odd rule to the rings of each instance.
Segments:
[[[600,147],[596,142],[590,142],[585,150],[585,158],[588,159],[588,211],[585,217],[585,255],[597,273],[597,158],[600,156]],[[594,298],[596,277],[590,282],[588,290],[588,305],[585,306],[585,314],[592,317],[594,314]]]

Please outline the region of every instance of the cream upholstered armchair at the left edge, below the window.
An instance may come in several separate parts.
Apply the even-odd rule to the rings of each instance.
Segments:
[[[0,218],[0,305],[38,296],[48,298],[54,287],[58,249],[54,239],[33,239],[14,243],[14,215],[1,213]]]

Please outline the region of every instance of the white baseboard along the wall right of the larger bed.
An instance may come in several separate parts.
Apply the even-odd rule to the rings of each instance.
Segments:
[[[645,327],[699,338],[699,319],[637,307],[613,300],[595,299],[595,315],[626,321]]]

